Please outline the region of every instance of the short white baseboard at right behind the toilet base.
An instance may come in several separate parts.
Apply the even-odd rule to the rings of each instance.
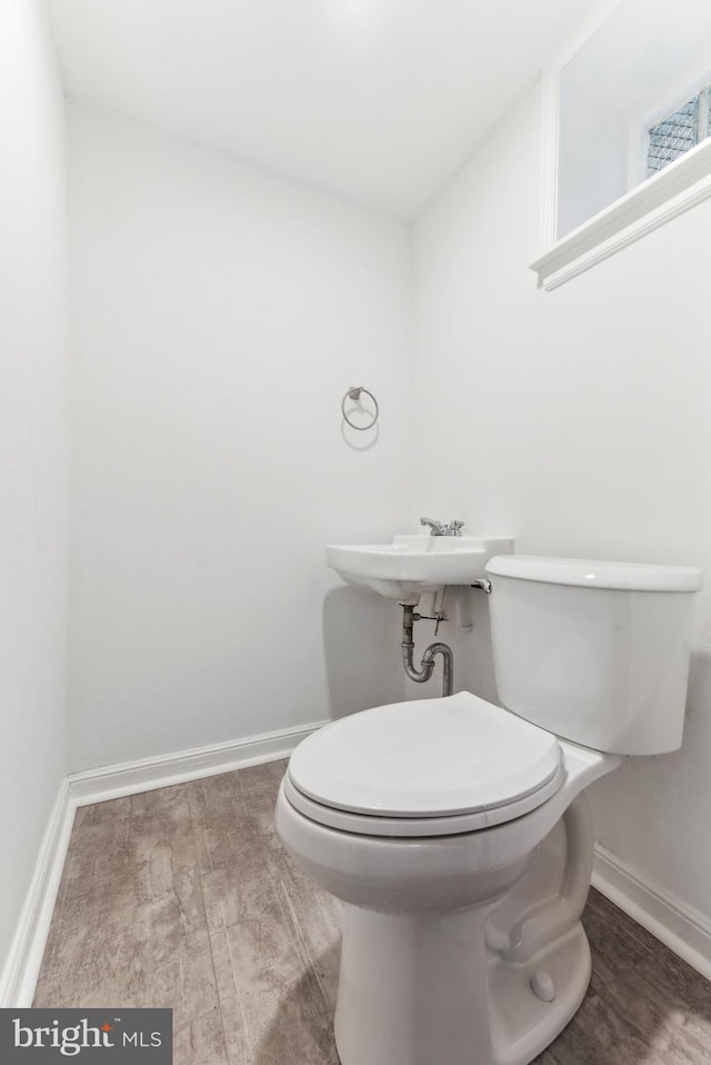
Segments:
[[[592,886],[661,943],[711,979],[711,919],[644,877],[601,844]]]

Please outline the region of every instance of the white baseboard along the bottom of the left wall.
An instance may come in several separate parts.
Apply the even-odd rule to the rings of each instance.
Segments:
[[[74,808],[69,784],[63,780],[44,830],[10,953],[0,975],[0,1007],[32,1005],[67,857]]]

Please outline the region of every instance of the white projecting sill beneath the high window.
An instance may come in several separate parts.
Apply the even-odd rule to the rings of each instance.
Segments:
[[[559,240],[531,269],[559,288],[711,197],[711,138]]]

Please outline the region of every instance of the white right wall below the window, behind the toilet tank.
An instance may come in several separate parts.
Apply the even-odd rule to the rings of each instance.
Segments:
[[[537,290],[539,104],[537,90],[417,225],[422,496],[519,551],[705,571],[683,748],[628,759],[594,807],[612,850],[711,916],[711,203]],[[454,638],[458,686],[485,695],[481,603],[478,620]]]

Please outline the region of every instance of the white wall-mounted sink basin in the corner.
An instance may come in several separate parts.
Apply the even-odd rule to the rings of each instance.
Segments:
[[[392,544],[331,545],[326,561],[349,585],[414,605],[427,591],[469,585],[494,555],[511,555],[508,536],[394,536]]]

